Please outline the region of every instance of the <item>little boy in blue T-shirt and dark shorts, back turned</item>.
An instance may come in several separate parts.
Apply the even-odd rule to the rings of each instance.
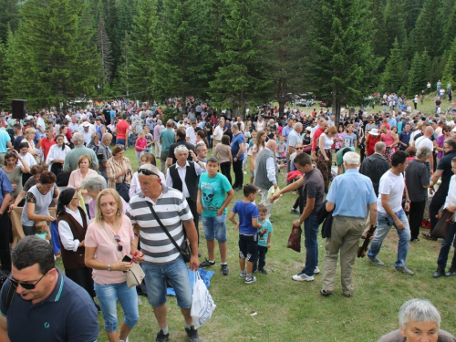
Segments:
[[[241,267],[240,278],[245,278],[245,284],[252,284],[256,277],[252,275],[254,263],[258,258],[258,230],[263,226],[258,223],[260,212],[254,205],[258,188],[254,184],[244,185],[244,199],[233,206],[228,219],[234,224],[234,230],[239,229],[239,265]],[[239,214],[239,223],[234,219]],[[245,271],[247,260],[247,271]]]

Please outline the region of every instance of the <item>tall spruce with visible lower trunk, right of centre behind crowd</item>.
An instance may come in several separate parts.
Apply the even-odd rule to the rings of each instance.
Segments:
[[[309,88],[340,107],[362,103],[371,91],[379,60],[372,57],[372,22],[363,0],[317,0],[310,16],[312,40],[306,59]]]

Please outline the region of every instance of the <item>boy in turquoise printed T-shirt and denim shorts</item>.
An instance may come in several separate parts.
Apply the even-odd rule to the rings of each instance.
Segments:
[[[206,259],[200,267],[215,264],[215,241],[219,243],[221,270],[228,275],[230,270],[226,264],[226,207],[233,200],[234,191],[230,181],[219,173],[219,160],[212,156],[206,163],[207,172],[200,176],[196,210],[202,215],[202,227],[207,243],[209,260]]]

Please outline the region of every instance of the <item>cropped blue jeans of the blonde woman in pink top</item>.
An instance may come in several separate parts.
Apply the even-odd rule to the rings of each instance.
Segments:
[[[97,284],[94,283],[99,307],[103,313],[105,330],[109,333],[117,330],[117,299],[123,309],[124,323],[133,328],[140,319],[138,312],[138,294],[136,287],[127,286],[127,282],[119,284]]]

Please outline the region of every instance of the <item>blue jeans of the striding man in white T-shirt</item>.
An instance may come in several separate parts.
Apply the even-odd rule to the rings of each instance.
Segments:
[[[405,266],[406,264],[405,260],[407,259],[407,254],[409,253],[410,228],[409,221],[407,221],[407,215],[402,209],[399,210],[399,212],[395,212],[395,214],[398,216],[402,224],[404,224],[405,229],[403,231],[399,231],[398,227],[396,227],[396,223],[394,223],[393,219],[387,213],[378,212],[377,231],[375,232],[374,240],[372,240],[372,244],[370,245],[368,257],[377,257],[383,240],[387,237],[391,226],[394,226],[399,235],[398,260],[394,263],[394,267],[398,268]]]

